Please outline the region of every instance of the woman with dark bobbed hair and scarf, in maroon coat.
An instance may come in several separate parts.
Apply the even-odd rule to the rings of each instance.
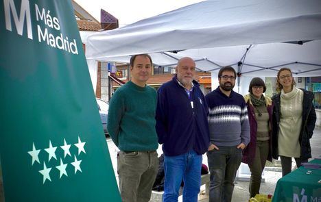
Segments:
[[[248,107],[251,139],[248,147],[243,150],[242,162],[248,164],[251,171],[250,198],[259,194],[266,160],[272,162],[272,101],[263,95],[265,90],[264,81],[255,77],[248,88],[250,93],[244,97]]]

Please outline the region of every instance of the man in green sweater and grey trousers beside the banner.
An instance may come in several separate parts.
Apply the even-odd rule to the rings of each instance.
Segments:
[[[156,100],[154,88],[146,86],[152,73],[150,55],[130,58],[131,81],[110,99],[108,133],[119,148],[117,171],[123,201],[150,201],[158,171]]]

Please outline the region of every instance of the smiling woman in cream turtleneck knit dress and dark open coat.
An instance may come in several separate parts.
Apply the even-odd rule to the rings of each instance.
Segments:
[[[278,94],[272,97],[273,142],[272,155],[280,156],[282,175],[291,172],[292,157],[299,167],[311,158],[310,138],[316,125],[316,111],[313,93],[296,88],[296,82],[289,68],[281,68],[276,79]]]

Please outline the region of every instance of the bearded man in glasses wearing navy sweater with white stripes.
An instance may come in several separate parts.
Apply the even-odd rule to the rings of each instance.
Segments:
[[[211,184],[209,201],[231,201],[242,150],[250,142],[248,110],[241,94],[234,92],[233,67],[219,70],[219,87],[206,94],[209,105],[211,145],[207,152]]]

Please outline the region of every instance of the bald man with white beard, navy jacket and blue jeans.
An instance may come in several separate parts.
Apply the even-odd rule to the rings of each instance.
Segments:
[[[158,89],[156,131],[164,152],[163,201],[177,201],[184,181],[183,201],[198,201],[202,154],[209,149],[209,125],[204,95],[195,76],[195,62],[182,58],[176,75]]]

